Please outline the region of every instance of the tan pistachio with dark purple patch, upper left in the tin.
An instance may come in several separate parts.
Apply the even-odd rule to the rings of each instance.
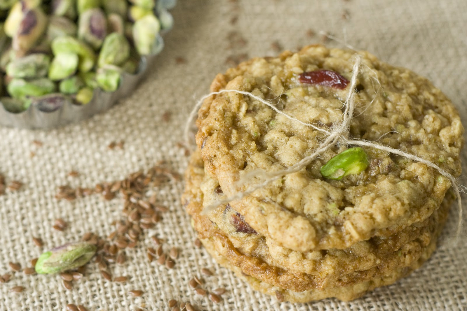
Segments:
[[[25,55],[41,38],[47,29],[48,19],[41,8],[36,7],[24,13],[20,27],[13,36],[12,46],[17,55]]]

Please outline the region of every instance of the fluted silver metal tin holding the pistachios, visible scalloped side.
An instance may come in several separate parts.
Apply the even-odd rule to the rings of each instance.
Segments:
[[[106,92],[100,88],[94,90],[92,100],[85,105],[74,104],[72,100],[59,101],[53,104],[43,105],[40,103],[42,97],[33,99],[32,104],[26,111],[13,113],[5,110],[0,103],[0,125],[16,127],[21,129],[52,129],[66,124],[71,124],[92,117],[95,114],[109,110],[117,104],[120,99],[127,97],[137,87],[154,63],[157,55],[163,50],[164,41],[162,36],[170,31],[172,27],[172,16],[167,11],[175,6],[176,0],[159,0],[156,14],[160,18],[168,19],[170,26],[163,28],[156,39],[157,49],[152,55],[142,56],[138,71],[135,74],[123,72],[120,85],[114,92]],[[53,97],[53,94],[46,97]]]

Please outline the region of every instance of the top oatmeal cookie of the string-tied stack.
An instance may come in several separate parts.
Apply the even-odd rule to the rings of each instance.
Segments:
[[[427,79],[368,52],[313,45],[295,54],[255,58],[216,76],[211,91],[251,92],[303,122],[332,129],[343,117],[355,53],[362,66],[350,138],[417,155],[458,177],[463,127],[453,104]],[[334,83],[314,79],[318,70],[332,73]],[[304,73],[311,73],[309,81]],[[254,177],[238,185],[245,174],[290,167],[325,139],[324,133],[235,92],[205,100],[197,125],[205,169],[227,196],[262,182]],[[369,157],[364,172],[325,179],[320,168],[350,147],[337,144],[301,171],[232,204],[252,228],[280,246],[302,252],[344,249],[425,220],[451,187],[431,167],[369,147],[363,148]]]

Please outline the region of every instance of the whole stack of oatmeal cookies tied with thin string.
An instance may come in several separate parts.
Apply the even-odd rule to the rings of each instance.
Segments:
[[[213,203],[297,164],[342,121],[354,51],[308,46],[255,58],[218,75],[198,112],[198,150],[184,204],[208,252],[279,300],[351,300],[394,283],[436,248],[454,199],[422,163],[338,141],[296,173],[239,200]],[[358,52],[362,66],[349,138],[378,142],[460,175],[463,127],[425,78]],[[318,131],[303,123],[314,124]]]

